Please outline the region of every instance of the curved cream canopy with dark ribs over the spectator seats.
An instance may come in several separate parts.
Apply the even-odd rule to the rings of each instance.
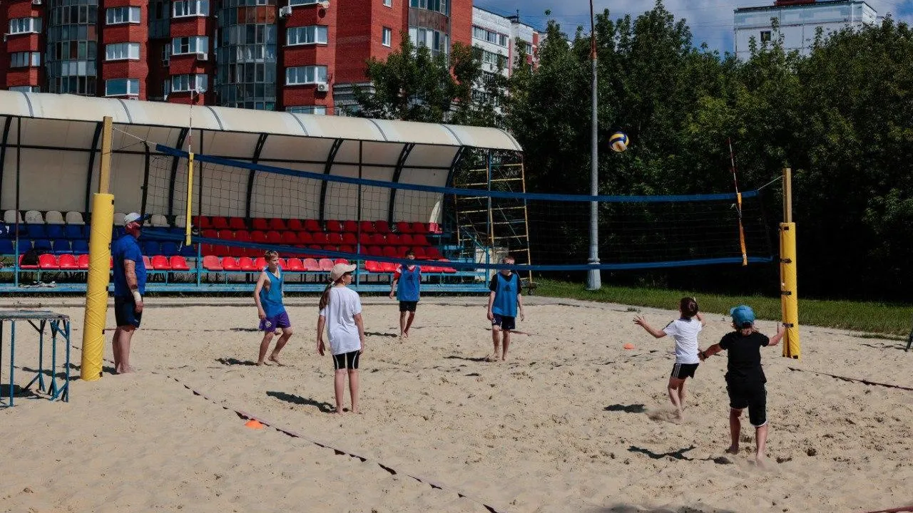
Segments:
[[[142,207],[141,189],[149,179],[143,142],[153,149],[154,143],[185,149],[189,139],[193,152],[205,148],[205,154],[239,161],[320,166],[327,174],[352,166],[385,168],[397,182],[440,186],[450,184],[458,157],[467,148],[522,152],[508,132],[494,128],[0,91],[0,209],[16,208],[18,186],[21,210],[88,212],[89,193],[98,189],[100,121],[105,116],[116,128],[111,193],[121,212]],[[22,162],[18,170],[17,158]],[[179,165],[174,159],[168,212],[158,214],[181,214],[174,211]],[[21,184],[16,183],[17,172]],[[246,211],[237,215],[250,215],[249,194],[257,172],[249,173]],[[314,198],[321,216],[326,195],[322,187],[320,197]],[[386,210],[391,222],[396,201],[396,194],[390,194]]]

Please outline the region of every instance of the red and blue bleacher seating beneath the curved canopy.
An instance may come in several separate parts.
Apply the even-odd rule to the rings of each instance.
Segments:
[[[112,240],[123,235],[123,216],[122,213],[114,215]],[[345,258],[327,257],[325,252],[358,255],[355,286],[362,289],[387,289],[396,264],[376,258],[404,258],[410,249],[419,260],[417,263],[422,267],[425,281],[430,284],[442,286],[442,289],[458,289],[464,284],[468,286],[464,288],[474,290],[479,282],[484,282],[476,271],[457,271],[448,265],[451,260],[447,253],[452,252],[453,246],[446,244],[449,234],[436,223],[390,225],[384,220],[320,222],[316,219],[228,216],[199,216],[194,217],[194,221],[198,224],[194,226],[194,236],[205,239],[205,244],[183,244],[183,216],[169,219],[164,215],[152,215],[146,221],[140,245],[153,289],[249,288],[248,284],[256,281],[257,273],[266,267],[263,249],[232,246],[231,242],[287,248],[281,252],[280,265],[289,273],[289,284],[310,284],[302,289],[322,287],[325,274],[335,263],[348,262]],[[226,244],[216,244],[216,240],[224,240]],[[37,250],[37,265],[22,264],[22,257],[30,249]],[[16,253],[19,255],[17,264]],[[61,283],[70,285],[68,288],[76,290],[80,284],[84,288],[89,269],[88,254],[89,215],[79,212],[64,215],[57,211],[6,211],[4,214],[3,224],[0,224],[0,272],[16,273],[16,283],[27,282],[29,278],[40,283],[42,274],[47,277],[53,273]],[[25,279],[19,279],[20,273],[29,274]]]

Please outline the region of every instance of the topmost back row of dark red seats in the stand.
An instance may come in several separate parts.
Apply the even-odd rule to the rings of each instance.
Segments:
[[[320,221],[317,219],[281,219],[279,217],[273,217],[271,219],[265,219],[263,217],[255,217],[250,220],[248,225],[247,220],[244,217],[224,217],[224,216],[208,216],[201,215],[199,217],[194,217],[194,223],[198,225],[200,229],[216,229],[216,230],[247,230],[253,228],[254,230],[268,231],[276,230],[278,232],[284,232],[286,230],[294,232],[349,232],[356,234],[359,232],[362,233],[381,233],[386,234],[390,233],[393,230],[390,228],[390,224],[383,220],[378,221],[339,221],[336,219],[330,219],[326,221],[325,226],[320,225]],[[437,223],[409,223],[407,221],[399,221],[395,225],[396,231],[401,234],[439,234],[441,233],[440,226]]]

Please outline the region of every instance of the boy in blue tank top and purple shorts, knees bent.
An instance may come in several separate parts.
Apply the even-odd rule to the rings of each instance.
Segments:
[[[278,360],[279,351],[282,351],[295,330],[292,329],[289,314],[286,312],[285,305],[282,304],[282,282],[285,279],[285,273],[283,273],[282,267],[279,267],[279,254],[275,251],[267,251],[264,258],[267,260],[267,267],[260,273],[257,287],[254,288],[254,303],[257,304],[260,330],[264,332],[263,340],[260,341],[257,365],[263,365],[269,342],[273,340],[276,330],[282,330],[282,336],[276,342],[273,352],[269,354],[269,361],[282,365]]]

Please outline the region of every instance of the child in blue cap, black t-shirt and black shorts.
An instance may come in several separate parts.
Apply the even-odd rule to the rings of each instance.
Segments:
[[[754,327],[754,311],[747,305],[729,310],[735,331],[723,336],[719,343],[707,351],[699,351],[700,360],[707,360],[719,351],[726,350],[729,362],[726,370],[726,391],[729,393],[729,434],[732,444],[726,450],[730,455],[739,453],[740,416],[748,408],[749,422],[754,426],[755,462],[764,464],[764,448],[767,445],[767,389],[764,370],[761,368],[761,348],[775,346],[783,337],[783,325],[777,327],[777,334],[768,339]]]

